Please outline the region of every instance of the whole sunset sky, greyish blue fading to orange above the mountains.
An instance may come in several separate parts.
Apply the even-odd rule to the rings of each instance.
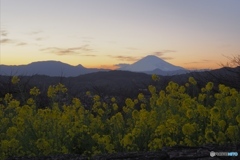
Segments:
[[[240,0],[0,0],[0,64],[215,69],[240,54]]]

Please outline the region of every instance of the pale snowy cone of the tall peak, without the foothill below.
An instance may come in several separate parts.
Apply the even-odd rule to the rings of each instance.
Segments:
[[[177,71],[177,70],[185,70],[182,67],[178,67],[175,65],[172,65],[161,58],[158,58],[157,56],[149,55],[144,57],[143,59],[119,68],[119,70],[126,70],[126,71],[132,71],[132,72],[149,72],[154,71],[156,69],[162,70],[162,71]]]

